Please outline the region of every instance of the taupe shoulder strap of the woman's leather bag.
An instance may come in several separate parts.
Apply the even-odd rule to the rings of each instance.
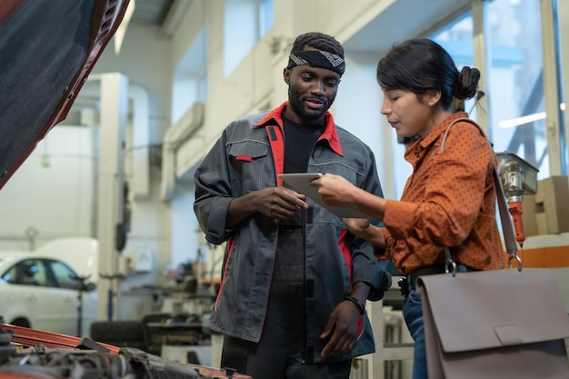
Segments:
[[[475,125],[478,128],[478,130],[480,130],[480,133],[484,135],[484,138],[486,139],[488,145],[490,146],[490,151],[492,152],[492,157],[493,157],[492,162],[494,164],[494,187],[496,189],[496,199],[498,201],[498,209],[500,211],[500,221],[502,222],[502,231],[504,232],[505,249],[510,255],[508,264],[510,268],[512,268],[513,265],[512,261],[515,260],[517,262],[518,271],[522,271],[522,259],[517,254],[518,245],[515,239],[514,223],[512,222],[512,217],[509,212],[509,207],[506,203],[504,187],[502,186],[500,175],[498,175],[498,166],[496,165],[496,161],[494,159],[494,148],[490,144],[488,137],[484,134],[484,130],[482,130],[482,127],[480,127],[480,125],[478,125],[474,120],[471,120],[470,118],[467,117],[461,117],[455,119],[450,125],[448,125],[446,131],[444,132],[443,141],[441,142],[441,147],[439,148],[439,152],[443,150],[444,143],[446,142],[446,135],[448,135],[448,131],[450,130],[451,126],[453,126],[459,121],[465,121],[467,123]],[[451,257],[448,247],[444,248],[444,255],[446,258],[446,270],[447,271],[449,270],[449,265],[450,265],[453,267],[453,274],[454,274],[456,270],[456,264],[454,263],[454,260]]]

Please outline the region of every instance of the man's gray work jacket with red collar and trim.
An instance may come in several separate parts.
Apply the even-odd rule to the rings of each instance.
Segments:
[[[205,238],[212,244],[227,242],[222,283],[211,316],[219,333],[258,342],[265,321],[267,297],[275,263],[279,223],[255,214],[238,227],[227,229],[229,203],[238,196],[281,185],[284,137],[281,115],[286,103],[271,113],[249,115],[225,128],[195,172],[194,210]],[[374,154],[362,141],[334,125],[326,113],[324,134],[314,146],[308,172],[342,175],[373,194],[383,195]],[[391,276],[375,258],[371,244],[347,233],[342,220],[306,199],[304,215],[305,286],[308,338],[307,362],[320,362],[327,341],[320,339],[334,307],[363,281],[372,287],[375,301],[391,285]],[[367,314],[360,320],[361,334],[354,349],[330,360],[345,360],[374,353],[374,338]]]

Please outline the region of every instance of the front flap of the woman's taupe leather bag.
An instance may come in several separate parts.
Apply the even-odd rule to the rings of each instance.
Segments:
[[[444,352],[569,337],[569,315],[548,269],[420,276]]]

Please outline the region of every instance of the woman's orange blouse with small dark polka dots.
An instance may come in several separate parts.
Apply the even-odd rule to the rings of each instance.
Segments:
[[[453,125],[440,150],[444,132],[464,112],[447,117],[404,155],[413,165],[401,201],[387,200],[386,248],[401,274],[444,264],[444,246],[457,264],[479,270],[504,268],[504,248],[495,218],[496,157],[481,131],[471,123]],[[494,162],[493,162],[494,160]]]

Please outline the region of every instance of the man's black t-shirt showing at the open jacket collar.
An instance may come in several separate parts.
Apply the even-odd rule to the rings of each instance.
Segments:
[[[284,172],[305,173],[314,144],[324,132],[324,125],[297,124],[283,117]]]

